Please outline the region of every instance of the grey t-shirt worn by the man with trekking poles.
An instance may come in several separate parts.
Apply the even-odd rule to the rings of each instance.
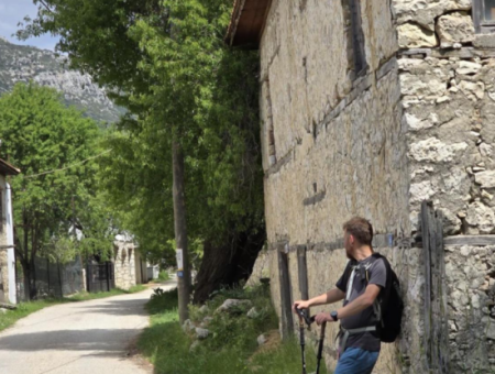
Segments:
[[[351,282],[350,278],[352,275],[352,270],[356,265],[360,265],[361,271],[354,272],[354,277]],[[367,279],[364,268],[367,268]],[[350,261],[339,282],[337,282],[337,288],[345,293],[343,306],[346,306],[349,302],[363,295],[367,285],[377,285],[382,288],[383,292],[383,289],[385,288],[387,270],[383,258],[370,256],[361,262]],[[348,287],[351,287],[349,292]],[[340,320],[340,323],[342,324],[342,328],[346,330],[359,329],[369,326],[376,326],[377,318],[373,306],[371,306],[354,316],[342,318]],[[345,344],[345,348],[350,346],[361,348],[371,352],[378,352],[380,338],[376,332],[363,332],[353,334],[349,337]]]

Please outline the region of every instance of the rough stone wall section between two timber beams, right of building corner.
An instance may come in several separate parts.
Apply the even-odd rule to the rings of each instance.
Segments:
[[[398,62],[413,227],[420,201],[431,199],[446,234],[494,233],[495,59],[420,54]]]

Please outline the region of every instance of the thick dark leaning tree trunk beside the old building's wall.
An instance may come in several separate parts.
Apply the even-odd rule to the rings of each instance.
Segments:
[[[265,232],[261,230],[255,234],[238,233],[223,245],[205,243],[194,302],[204,304],[220,287],[232,287],[248,280],[265,239]]]

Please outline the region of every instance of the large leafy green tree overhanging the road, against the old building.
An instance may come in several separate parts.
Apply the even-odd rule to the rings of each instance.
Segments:
[[[185,155],[189,238],[205,245],[196,301],[249,276],[265,238],[257,56],[223,44],[231,1],[43,3],[24,32],[61,35],[58,50],[73,66],[112,88],[130,111],[121,135],[109,140],[119,155],[103,160],[103,183],[116,205],[151,207],[136,207],[128,221],[141,248],[153,242],[144,228],[173,238],[166,155],[175,140]]]

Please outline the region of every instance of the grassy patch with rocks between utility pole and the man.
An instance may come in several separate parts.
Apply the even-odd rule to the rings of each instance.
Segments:
[[[246,309],[233,315],[213,314],[227,298],[250,299],[258,316],[250,319]],[[231,290],[218,294],[208,309],[193,307],[196,323],[209,315],[210,336],[190,352],[194,337],[185,333],[178,322],[177,292],[152,297],[146,306],[151,326],[141,336],[138,348],[154,365],[155,374],[292,374],[301,369],[300,346],[296,340],[258,349],[256,338],[276,330],[278,320],[266,288]],[[308,367],[316,367],[315,354],[307,348]],[[327,371],[321,370],[322,374]]]

